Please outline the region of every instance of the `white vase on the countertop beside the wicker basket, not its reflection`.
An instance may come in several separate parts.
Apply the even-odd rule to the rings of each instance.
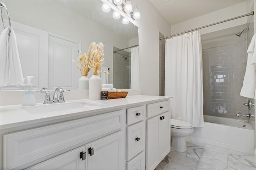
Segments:
[[[89,79],[89,100],[101,100],[102,81],[99,75]]]

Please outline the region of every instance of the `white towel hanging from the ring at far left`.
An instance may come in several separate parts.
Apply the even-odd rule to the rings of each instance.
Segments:
[[[12,29],[9,36],[9,27],[0,34],[0,86],[22,84],[23,75],[20,57],[16,43],[16,36]]]

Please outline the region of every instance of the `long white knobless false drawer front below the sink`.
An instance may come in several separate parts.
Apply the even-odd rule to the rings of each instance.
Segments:
[[[4,135],[4,169],[27,168],[62,150],[118,131],[125,123],[125,110],[118,110]]]

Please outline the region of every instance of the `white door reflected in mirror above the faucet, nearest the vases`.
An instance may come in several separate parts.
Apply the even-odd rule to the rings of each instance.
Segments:
[[[80,72],[76,68],[80,43],[48,36],[48,89],[78,89]]]

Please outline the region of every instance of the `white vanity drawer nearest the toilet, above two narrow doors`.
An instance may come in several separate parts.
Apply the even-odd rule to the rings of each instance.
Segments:
[[[170,109],[170,100],[147,104],[147,117],[153,117]]]

